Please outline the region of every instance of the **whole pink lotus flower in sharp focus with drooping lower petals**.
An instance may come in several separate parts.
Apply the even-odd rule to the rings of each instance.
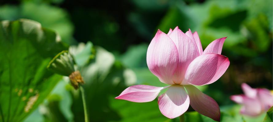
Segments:
[[[178,27],[170,29],[168,34],[158,30],[147,50],[147,65],[162,83],[170,86],[134,85],[115,99],[150,102],[160,91],[168,88],[158,98],[158,106],[164,116],[179,117],[190,104],[197,112],[219,121],[217,102],[193,85],[211,84],[227,70],[229,60],[220,55],[225,39],[216,39],[203,52],[197,32],[192,34],[189,30],[183,33]]]

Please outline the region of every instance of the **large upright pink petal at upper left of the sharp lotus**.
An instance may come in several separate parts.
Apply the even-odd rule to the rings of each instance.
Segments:
[[[166,84],[174,84],[172,78],[178,65],[178,52],[172,39],[158,30],[147,50],[149,70]]]

